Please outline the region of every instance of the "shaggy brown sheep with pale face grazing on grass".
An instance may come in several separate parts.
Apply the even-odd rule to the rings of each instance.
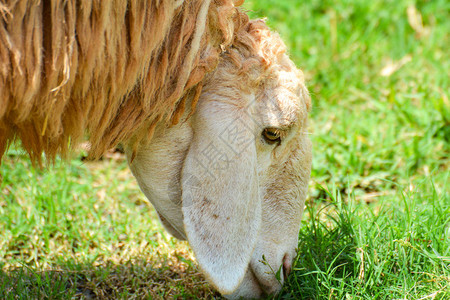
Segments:
[[[161,223],[220,293],[277,293],[312,156],[310,97],[279,36],[225,0],[0,11],[0,151],[18,138],[40,163],[85,132],[93,158],[120,142]]]

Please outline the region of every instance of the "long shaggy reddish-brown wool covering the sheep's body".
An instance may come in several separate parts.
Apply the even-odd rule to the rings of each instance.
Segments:
[[[86,136],[98,158],[177,123],[248,24],[242,2],[1,0],[0,158],[14,139],[40,163]]]

